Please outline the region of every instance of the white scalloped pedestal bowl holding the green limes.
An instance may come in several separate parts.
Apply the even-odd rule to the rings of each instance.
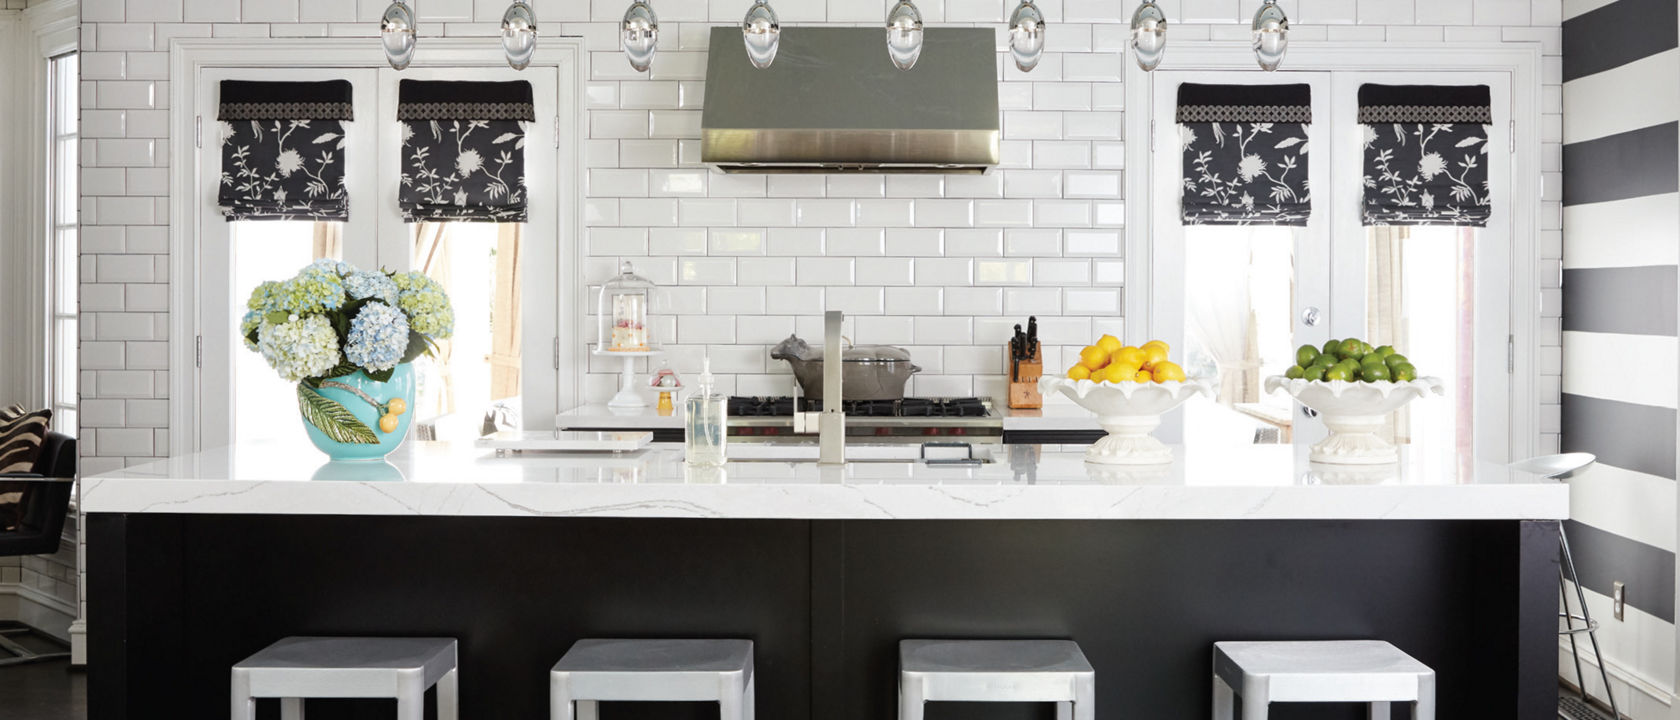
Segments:
[[[1312,446],[1309,460],[1331,465],[1383,465],[1399,462],[1399,448],[1376,435],[1383,430],[1388,413],[1416,398],[1441,394],[1441,379],[1347,383],[1270,376],[1265,379],[1265,389],[1267,393],[1282,389],[1324,418],[1331,436]]]

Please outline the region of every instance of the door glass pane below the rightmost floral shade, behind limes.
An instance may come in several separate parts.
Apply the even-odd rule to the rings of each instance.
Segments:
[[[1475,448],[1475,228],[1371,227],[1366,230],[1368,342],[1394,346],[1440,378],[1443,398],[1410,403],[1384,436],[1433,453]]]

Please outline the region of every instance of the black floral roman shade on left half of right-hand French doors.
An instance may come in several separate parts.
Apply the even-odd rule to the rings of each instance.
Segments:
[[[1184,225],[1307,225],[1309,86],[1178,87]]]

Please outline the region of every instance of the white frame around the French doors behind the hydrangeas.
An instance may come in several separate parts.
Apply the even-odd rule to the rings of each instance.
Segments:
[[[507,67],[501,44],[494,37],[425,39],[415,55],[415,69],[465,69]],[[203,70],[213,67],[264,69],[264,67],[388,67],[385,52],[373,39],[176,39],[170,45],[170,455],[202,450],[200,384],[207,378],[198,368],[198,337],[203,317],[200,307],[200,206],[205,185],[200,178],[193,138],[198,136],[198,101]],[[558,112],[553,119],[556,136],[554,164],[554,258],[559,269],[554,307],[554,337],[543,341],[546,332],[528,332],[528,347],[536,342],[553,342],[556,406],[576,404],[580,396],[580,371],[583,366],[583,336],[580,314],[585,287],[578,282],[576,267],[583,258],[581,178],[583,164],[583,82],[588,57],[580,37],[544,37],[533,67],[558,69]],[[213,123],[213,119],[212,119]],[[533,198],[534,200],[534,198]],[[354,201],[354,200],[353,200]],[[533,237],[533,243],[546,238]],[[573,347],[573,352],[563,352]],[[225,378],[227,368],[222,376]],[[225,389],[218,391],[225,393]],[[548,403],[543,403],[548,404]],[[526,413],[526,425],[536,430],[553,423],[553,411]]]

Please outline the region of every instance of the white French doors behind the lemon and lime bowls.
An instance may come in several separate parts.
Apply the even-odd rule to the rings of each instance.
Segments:
[[[1391,344],[1418,373],[1441,378],[1445,396],[1411,403],[1384,430],[1430,453],[1505,462],[1510,457],[1510,82],[1495,72],[1152,72],[1149,269],[1146,322],[1129,342],[1169,342],[1193,376],[1216,374],[1215,398],[1188,403],[1163,435],[1193,450],[1310,445],[1314,413],[1263,379],[1295,364],[1295,349],[1359,337]],[[1312,215],[1305,227],[1186,227],[1178,87],[1307,84]],[[1364,126],[1359,86],[1480,84],[1492,89],[1485,228],[1362,227]],[[1188,453],[1191,457],[1198,451]]]

